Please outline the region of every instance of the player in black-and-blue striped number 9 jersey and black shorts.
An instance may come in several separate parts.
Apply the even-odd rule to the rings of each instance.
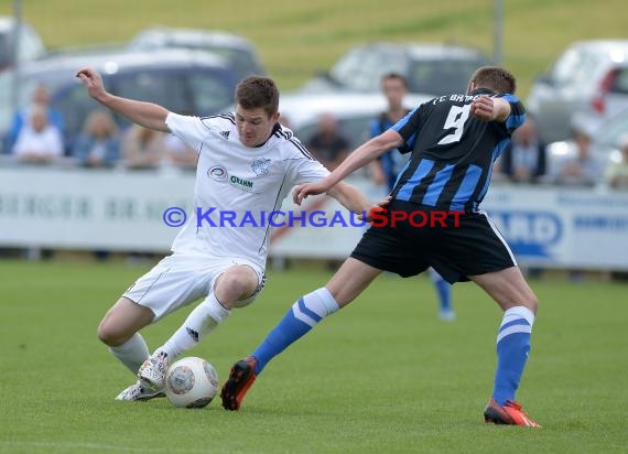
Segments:
[[[497,371],[484,410],[486,422],[540,426],[515,400],[530,350],[538,301],[517,261],[486,213],[479,209],[492,163],[523,123],[523,106],[513,95],[516,79],[496,66],[478,68],[466,94],[441,96],[416,107],[391,129],[358,147],[322,182],[299,186],[294,199],[321,194],[387,150],[411,152],[391,193],[389,212],[464,212],[459,226],[368,229],[351,256],[322,287],[300,298],[268,337],[237,361],[223,387],[223,406],[240,408],[267,364],[325,316],[355,300],[382,271],[411,277],[433,267],[451,283],[474,281],[502,309],[497,334]]]

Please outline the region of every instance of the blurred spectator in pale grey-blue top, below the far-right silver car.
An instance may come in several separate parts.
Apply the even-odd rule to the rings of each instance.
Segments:
[[[551,169],[551,180],[557,184],[593,186],[602,181],[598,160],[591,154],[591,136],[584,128],[574,129],[576,153]]]

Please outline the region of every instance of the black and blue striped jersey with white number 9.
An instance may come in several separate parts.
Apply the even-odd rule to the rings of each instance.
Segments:
[[[510,102],[506,122],[480,121],[470,115],[470,104],[480,95]],[[400,151],[412,152],[392,197],[437,209],[476,212],[488,190],[492,163],[524,120],[523,105],[515,95],[495,95],[486,88],[422,104],[392,127],[405,141]]]

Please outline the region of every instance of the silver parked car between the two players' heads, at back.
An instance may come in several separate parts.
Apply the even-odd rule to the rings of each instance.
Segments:
[[[408,79],[410,93],[440,96],[465,91],[474,71],[488,64],[486,55],[469,47],[376,42],[347,52],[304,90],[379,91],[381,76],[394,72]]]

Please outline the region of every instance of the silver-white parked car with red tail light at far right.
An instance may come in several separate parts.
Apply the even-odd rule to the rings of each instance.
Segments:
[[[575,114],[604,120],[628,108],[628,40],[572,44],[537,78],[526,108],[548,143],[571,136]]]

